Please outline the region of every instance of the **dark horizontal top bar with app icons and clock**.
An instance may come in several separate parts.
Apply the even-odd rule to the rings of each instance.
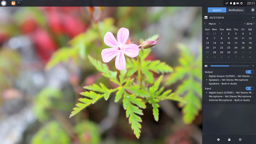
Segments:
[[[223,1],[223,0],[0,0],[4,7],[18,6],[61,6],[61,7],[85,7],[85,6],[147,6],[147,7],[171,7],[171,6],[197,6],[197,7],[223,7],[234,2],[242,5],[247,4],[247,1]],[[16,1],[16,2],[14,2]],[[227,3],[229,2],[229,3]],[[248,1],[250,4],[255,1]]]

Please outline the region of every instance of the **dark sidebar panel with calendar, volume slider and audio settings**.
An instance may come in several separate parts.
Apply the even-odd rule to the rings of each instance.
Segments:
[[[252,8],[203,7],[203,144],[256,143]]]

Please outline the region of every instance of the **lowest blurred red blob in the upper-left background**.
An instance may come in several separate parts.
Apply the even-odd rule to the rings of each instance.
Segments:
[[[57,49],[57,45],[53,38],[43,29],[35,30],[32,38],[35,42],[35,47],[38,56],[45,62],[49,60],[52,53]]]

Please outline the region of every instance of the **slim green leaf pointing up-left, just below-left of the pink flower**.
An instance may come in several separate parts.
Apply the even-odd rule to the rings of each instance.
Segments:
[[[120,85],[120,83],[117,80],[117,72],[110,71],[108,66],[106,64],[102,64],[100,61],[94,59],[90,55],[88,55],[89,60],[94,65],[94,67],[102,72],[102,75],[109,78],[112,82]]]

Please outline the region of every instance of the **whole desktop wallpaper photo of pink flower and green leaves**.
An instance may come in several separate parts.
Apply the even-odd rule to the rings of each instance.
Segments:
[[[201,7],[1,7],[1,144],[202,144]]]

